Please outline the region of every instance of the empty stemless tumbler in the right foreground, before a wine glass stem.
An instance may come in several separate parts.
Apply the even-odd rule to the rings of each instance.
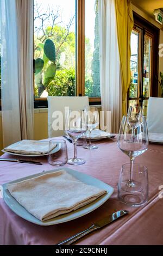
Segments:
[[[130,163],[123,164],[118,182],[118,199],[132,206],[140,206],[148,200],[148,170],[141,164],[133,164],[135,189],[127,185],[130,179]]]

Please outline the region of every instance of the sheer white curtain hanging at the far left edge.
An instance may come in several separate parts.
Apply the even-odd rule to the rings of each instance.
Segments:
[[[33,138],[33,0],[1,0],[3,146]]]

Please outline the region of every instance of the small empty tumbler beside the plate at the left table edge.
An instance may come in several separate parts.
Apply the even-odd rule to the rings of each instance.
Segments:
[[[49,141],[48,163],[53,166],[63,166],[67,163],[67,145],[64,139]]]

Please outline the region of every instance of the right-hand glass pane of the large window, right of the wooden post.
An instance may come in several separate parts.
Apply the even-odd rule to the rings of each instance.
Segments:
[[[100,97],[98,0],[85,1],[85,95]]]

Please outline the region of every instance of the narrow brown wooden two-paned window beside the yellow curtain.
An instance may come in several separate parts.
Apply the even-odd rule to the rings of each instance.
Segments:
[[[128,105],[140,104],[145,115],[149,96],[157,96],[158,93],[158,44],[159,29],[134,13]]]

